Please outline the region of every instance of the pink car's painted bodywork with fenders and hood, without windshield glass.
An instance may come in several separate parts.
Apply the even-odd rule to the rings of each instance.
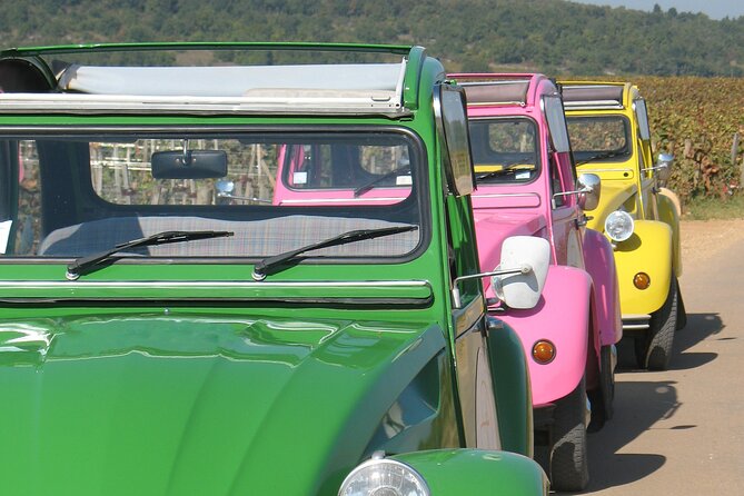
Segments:
[[[509,236],[538,236],[550,241],[552,266],[537,307],[530,310],[503,305],[490,307],[494,315],[512,325],[522,339],[529,364],[533,404],[535,407],[547,406],[563,398],[583,377],[586,377],[587,389],[597,388],[599,348],[614,345],[622,337],[617,276],[609,242],[601,234],[582,227],[584,214],[576,195],[561,197],[563,200],[558,206],[553,201],[557,176],[552,175],[549,167],[559,171],[562,191],[576,190],[569,152],[548,150],[552,137],[540,99],[544,95],[556,95],[556,88],[542,75],[449,77],[466,88],[472,131],[474,122],[487,123],[489,119],[516,117],[536,125],[539,166],[530,172],[533,177],[510,182],[479,182],[473,195],[483,270],[493,270],[498,265],[502,244]],[[485,93],[475,93],[488,81],[522,81],[525,88],[523,99],[489,103]],[[472,93],[475,93],[474,99],[470,99]],[[478,139],[490,141],[492,135],[490,131],[472,132],[470,137],[478,176],[478,147],[483,146]],[[507,167],[508,163],[503,166],[504,169]],[[527,172],[522,175],[526,177]],[[495,297],[490,281],[484,284],[486,295]],[[555,358],[548,364],[538,364],[532,357],[533,345],[539,339],[555,345]]]

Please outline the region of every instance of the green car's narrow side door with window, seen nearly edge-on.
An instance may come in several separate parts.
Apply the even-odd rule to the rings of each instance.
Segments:
[[[458,280],[479,272],[475,221],[469,192],[473,158],[469,143],[465,92],[445,86],[435,95],[435,115],[443,147],[445,226],[452,291],[450,329],[455,345],[457,390],[462,427],[467,447],[500,449],[498,415],[490,376],[486,340],[486,304],[479,278]],[[459,171],[457,180],[456,171]],[[469,183],[469,185],[468,185]],[[468,187],[469,186],[469,187]]]

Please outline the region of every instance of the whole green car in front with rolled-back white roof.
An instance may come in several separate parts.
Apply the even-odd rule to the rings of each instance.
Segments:
[[[535,305],[547,252],[480,272],[424,49],[11,49],[0,87],[6,489],[547,494],[480,280]]]

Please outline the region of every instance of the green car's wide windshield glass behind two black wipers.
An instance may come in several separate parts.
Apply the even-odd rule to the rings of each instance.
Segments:
[[[425,158],[403,132],[60,131],[0,145],[11,185],[0,191],[4,257],[76,258],[214,230],[234,235],[121,255],[265,258],[351,230],[416,226],[306,254],[399,258],[426,232]]]

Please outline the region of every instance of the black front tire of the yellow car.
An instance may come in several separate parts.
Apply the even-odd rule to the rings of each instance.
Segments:
[[[662,308],[651,315],[648,333],[636,338],[635,353],[638,365],[648,370],[669,368],[674,346],[674,333],[677,328],[677,280],[672,277],[669,291]]]

